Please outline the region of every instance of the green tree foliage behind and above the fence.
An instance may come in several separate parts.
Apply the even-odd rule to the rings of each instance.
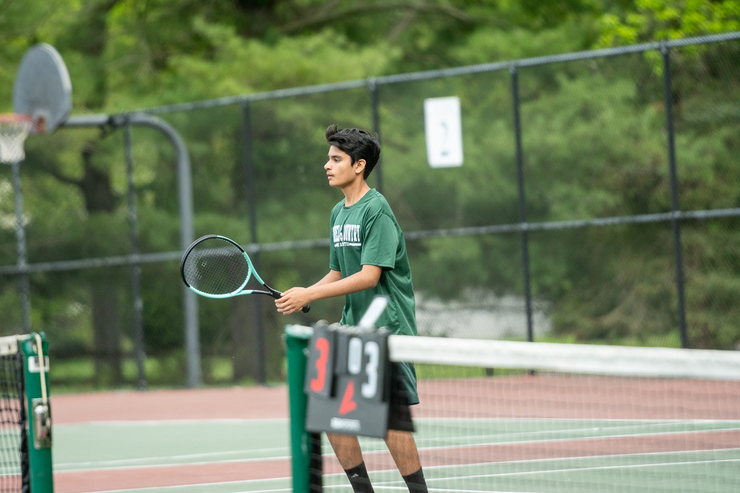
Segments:
[[[739,29],[740,1],[570,0],[0,0],[0,106],[39,41],[64,56],[75,112],[124,112],[166,103],[417,69],[479,64]],[[737,42],[673,50],[679,202],[684,209],[740,203],[740,50]],[[531,221],[669,211],[662,58],[658,52],[529,67],[519,72],[525,194]],[[457,95],[465,164],[429,169],[423,100]],[[405,231],[519,221],[507,71],[380,86],[383,191]],[[192,159],[196,234],[252,241],[246,219],[242,106],[164,115]],[[252,160],[258,241],[325,237],[340,195],[326,186],[323,129],[370,128],[366,89],[254,102]],[[172,149],[134,129],[141,249],[180,248]],[[129,252],[121,132],[62,129],[32,137],[24,163],[31,262]],[[377,173],[375,173],[377,175]],[[371,177],[371,185],[378,177]],[[12,188],[0,174],[0,261],[15,262]],[[733,347],[740,259],[736,220],[682,222],[690,338]],[[533,232],[532,289],[556,336],[620,344],[678,344],[670,224]],[[518,235],[408,242],[414,284],[443,299],[523,294]],[[274,285],[307,285],[326,271],[326,251],[261,254]],[[127,268],[32,276],[33,322],[58,356],[92,355],[99,385],[121,385],[132,350]],[[176,262],[144,265],[147,352],[161,383],[183,378],[181,285]],[[101,295],[101,293],[105,293]],[[338,319],[342,300],[312,317]],[[255,375],[254,307],[246,299],[201,302],[210,381]],[[0,277],[0,322],[19,330],[13,279]],[[271,375],[279,375],[283,324],[269,300]],[[245,317],[247,319],[245,319]],[[306,319],[308,321],[308,319]],[[485,336],[485,334],[481,334]],[[120,339],[120,342],[118,341]],[[111,343],[112,341],[112,343]],[[112,350],[107,347],[112,346]],[[223,365],[226,358],[227,370]],[[233,359],[233,364],[231,362]],[[121,370],[123,365],[123,370]],[[224,376],[226,375],[226,376]]]

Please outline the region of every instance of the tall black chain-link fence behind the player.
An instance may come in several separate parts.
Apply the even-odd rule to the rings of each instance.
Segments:
[[[185,242],[222,234],[275,288],[320,279],[342,198],[326,184],[323,132],[338,123],[380,135],[370,185],[406,234],[420,333],[731,349],[739,40],[185,103],[34,137],[21,183],[27,266],[11,169],[0,169],[0,332],[28,329],[25,278],[57,387],[280,380],[280,327],[337,321],[343,300],[290,317],[267,297],[198,300],[184,295],[178,260]],[[465,162],[432,169],[423,101],[450,95]],[[175,129],[186,177],[161,132],[128,125],[135,115]]]

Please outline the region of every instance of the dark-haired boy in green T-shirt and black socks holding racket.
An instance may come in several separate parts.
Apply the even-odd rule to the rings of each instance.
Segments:
[[[411,269],[396,217],[386,198],[367,184],[367,177],[380,157],[380,146],[368,132],[326,129],[329,161],[324,165],[329,185],[341,188],[344,199],[332,209],[332,242],[329,273],[310,288],[291,288],[275,300],[277,311],[288,315],[317,299],[345,296],[342,323],[354,325],[373,296],[389,297],[388,307],[377,321],[395,334],[417,334]],[[413,364],[398,364],[405,402],[391,405],[393,428],[386,445],[412,493],[428,492],[411,435],[409,405],[418,404]],[[404,392],[405,391],[405,392]],[[402,400],[404,398],[401,398]],[[406,425],[406,426],[404,426]],[[327,433],[334,453],[349,477],[354,492],[373,492],[356,436]]]

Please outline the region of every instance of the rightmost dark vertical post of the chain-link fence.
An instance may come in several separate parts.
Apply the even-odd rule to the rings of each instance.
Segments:
[[[676,263],[676,290],[679,295],[679,332],[681,333],[681,347],[689,347],[689,338],[686,331],[686,305],[684,302],[684,260],[681,246],[681,223],[679,222],[679,186],[676,174],[676,141],[673,133],[673,94],[670,81],[670,51],[661,47],[663,55],[663,95],[665,98],[665,131],[668,144],[668,169],[670,170],[670,210],[673,218],[673,256]]]

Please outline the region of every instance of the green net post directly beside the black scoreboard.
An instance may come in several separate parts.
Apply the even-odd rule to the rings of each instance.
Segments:
[[[288,394],[290,401],[290,448],[292,455],[293,493],[308,493],[311,476],[311,434],[306,432],[306,348],[312,330],[286,325],[288,347]]]

